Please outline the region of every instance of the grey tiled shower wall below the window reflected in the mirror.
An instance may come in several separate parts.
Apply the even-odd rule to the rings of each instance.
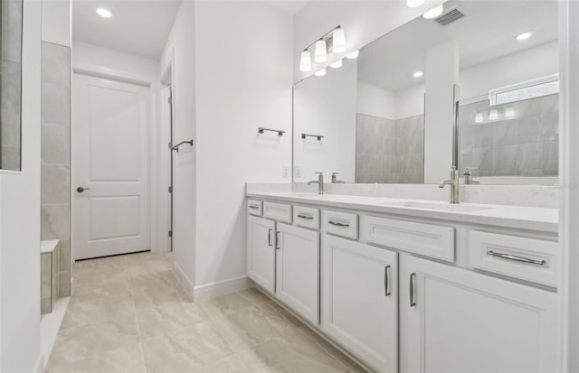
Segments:
[[[459,167],[476,176],[556,176],[559,95],[489,107],[489,100],[459,108]],[[497,119],[489,114],[496,110]],[[479,123],[477,123],[479,116]]]

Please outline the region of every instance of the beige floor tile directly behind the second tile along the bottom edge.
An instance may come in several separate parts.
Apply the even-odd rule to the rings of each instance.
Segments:
[[[142,340],[205,322],[209,318],[195,303],[166,303],[137,308],[138,330]]]

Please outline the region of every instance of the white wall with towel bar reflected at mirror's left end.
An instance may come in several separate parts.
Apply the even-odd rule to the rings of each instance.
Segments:
[[[317,172],[324,173],[326,182],[332,173],[340,173],[339,180],[355,181],[356,85],[356,60],[347,60],[339,70],[294,86],[294,169],[299,167],[301,175],[294,182],[318,180]],[[325,137],[302,139],[302,133]]]

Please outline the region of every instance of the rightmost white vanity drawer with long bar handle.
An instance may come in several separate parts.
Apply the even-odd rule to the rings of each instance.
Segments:
[[[536,284],[557,286],[556,242],[470,231],[470,266]]]

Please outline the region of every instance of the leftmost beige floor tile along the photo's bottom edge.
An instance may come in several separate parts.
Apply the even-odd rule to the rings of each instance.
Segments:
[[[52,354],[46,366],[51,373],[145,373],[145,360],[140,343],[120,346],[92,356]]]

